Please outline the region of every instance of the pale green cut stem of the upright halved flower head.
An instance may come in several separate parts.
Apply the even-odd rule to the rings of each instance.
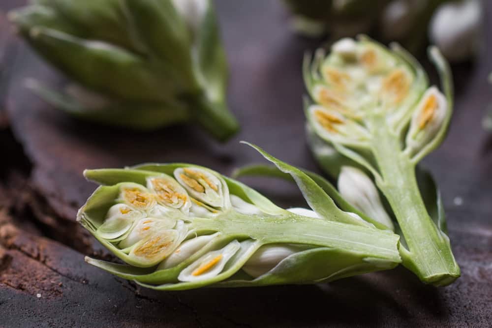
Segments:
[[[400,138],[382,115],[371,117],[372,151],[381,179],[376,184],[388,199],[408,250],[400,245],[403,265],[426,283],[446,285],[460,276],[448,237],[438,230],[425,207],[415,176],[415,164],[402,152]]]

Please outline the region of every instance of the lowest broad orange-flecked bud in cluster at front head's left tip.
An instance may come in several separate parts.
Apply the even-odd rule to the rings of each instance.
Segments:
[[[161,220],[159,220],[161,221]],[[186,237],[187,227],[183,221],[176,223],[175,229],[167,229],[167,222],[155,222],[152,231],[145,239],[135,244],[128,257],[141,267],[151,267],[164,260]]]

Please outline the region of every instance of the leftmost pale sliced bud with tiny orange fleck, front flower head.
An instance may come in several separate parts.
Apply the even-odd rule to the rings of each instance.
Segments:
[[[113,205],[106,214],[104,223],[97,228],[97,235],[104,239],[115,239],[124,235],[135,220],[139,220],[144,213],[125,204]]]

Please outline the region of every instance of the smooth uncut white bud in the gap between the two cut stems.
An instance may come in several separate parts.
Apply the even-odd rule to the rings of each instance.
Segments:
[[[338,191],[356,209],[391,230],[395,229],[391,218],[381,203],[376,186],[363,171],[355,167],[343,166],[338,176]]]

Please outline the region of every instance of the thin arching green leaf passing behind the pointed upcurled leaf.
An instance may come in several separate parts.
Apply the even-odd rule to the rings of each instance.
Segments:
[[[350,203],[348,203],[343,197],[340,195],[338,190],[328,181],[327,179],[321,177],[320,175],[310,172],[305,169],[301,169],[309,178],[313,179],[323,190],[330,196],[333,201],[338,205],[338,207],[346,212],[352,212],[359,215],[365,221],[372,223],[379,229],[387,229],[387,227],[376,220],[371,219],[369,216],[361,212],[360,210],[354,208]],[[273,165],[247,165],[243,166],[239,169],[234,170],[232,173],[234,178],[241,177],[269,177],[269,178],[279,178],[284,179],[290,182],[295,182],[291,175],[288,173],[284,173],[280,171],[276,166]]]

